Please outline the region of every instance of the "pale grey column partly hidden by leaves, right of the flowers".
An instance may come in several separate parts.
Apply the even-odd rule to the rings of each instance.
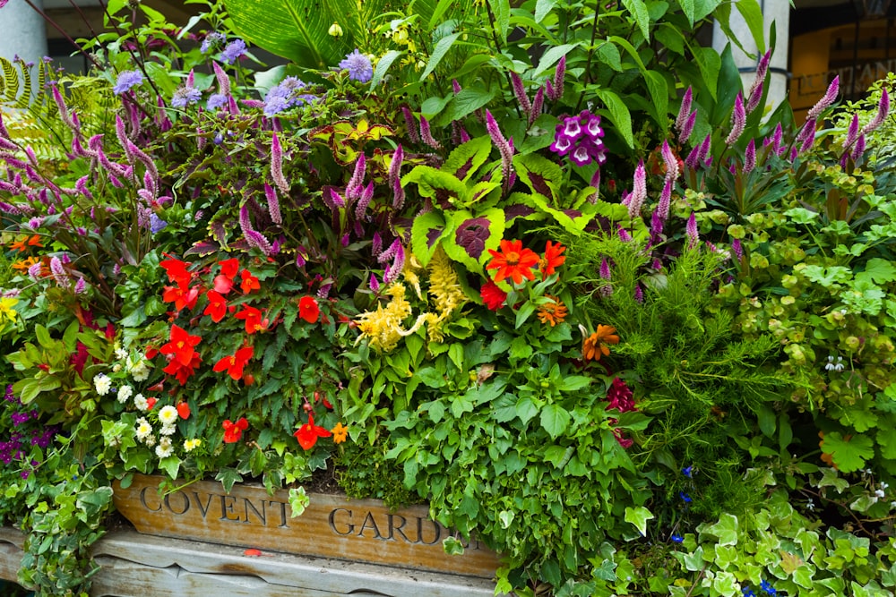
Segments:
[[[771,23],[775,23],[775,51],[771,55],[771,64],[769,64],[769,95],[768,105],[777,107],[787,98],[788,90],[788,45],[790,30],[790,4],[788,0],[759,0],[760,8],[762,8],[762,30],[765,32],[765,41],[769,41],[769,31]],[[736,7],[731,9],[731,31],[740,40],[741,45],[750,53],[757,54],[756,44],[753,40],[753,34],[746,26],[744,18],[737,12]],[[712,47],[721,53],[725,46],[730,43],[725,33],[719,27],[719,23],[715,24],[712,30]],[[753,84],[756,65],[759,63],[758,56],[750,58],[745,55],[739,47],[731,44],[731,52],[734,56],[735,64],[740,69],[740,78],[744,82],[744,89],[748,90]]]

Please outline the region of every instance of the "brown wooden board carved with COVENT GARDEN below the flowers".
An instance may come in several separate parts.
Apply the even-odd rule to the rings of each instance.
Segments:
[[[137,474],[127,489],[114,486],[116,508],[140,533],[488,579],[499,565],[476,539],[462,555],[445,554],[442,542],[452,533],[426,507],[390,512],[377,499],[312,493],[293,517],[286,490],[271,496],[235,485],[227,494],[218,482],[194,482],[159,496],[160,482]]]

